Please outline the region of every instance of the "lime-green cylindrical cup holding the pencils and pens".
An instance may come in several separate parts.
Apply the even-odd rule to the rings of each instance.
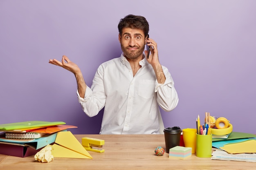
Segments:
[[[198,135],[196,134],[196,156],[201,158],[211,157],[212,134]]]

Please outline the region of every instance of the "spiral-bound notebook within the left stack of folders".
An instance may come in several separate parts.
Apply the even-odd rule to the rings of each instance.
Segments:
[[[27,132],[27,133],[15,133],[15,132],[5,132],[6,139],[38,139],[43,137],[47,133],[36,133],[36,132]]]

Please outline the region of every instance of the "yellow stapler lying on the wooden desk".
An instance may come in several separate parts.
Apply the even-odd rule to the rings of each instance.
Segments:
[[[101,139],[95,139],[95,138],[90,138],[90,137],[83,137],[82,138],[82,145],[86,150],[90,150],[93,152],[99,152],[102,153],[105,150],[104,149],[95,149],[92,148],[94,147],[98,147],[98,148],[102,148],[102,146],[105,144],[104,140]]]

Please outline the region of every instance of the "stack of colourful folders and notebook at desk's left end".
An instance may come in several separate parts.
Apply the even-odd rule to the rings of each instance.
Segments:
[[[57,132],[76,126],[63,121],[24,121],[0,124],[0,154],[16,157],[35,155],[56,140]],[[16,139],[15,139],[16,138]]]

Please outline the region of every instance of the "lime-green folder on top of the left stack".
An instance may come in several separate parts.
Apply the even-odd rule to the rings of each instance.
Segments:
[[[63,121],[22,121],[22,122],[10,123],[10,124],[0,124],[0,131],[55,126],[55,125],[61,125],[61,124],[66,124],[66,123]]]

